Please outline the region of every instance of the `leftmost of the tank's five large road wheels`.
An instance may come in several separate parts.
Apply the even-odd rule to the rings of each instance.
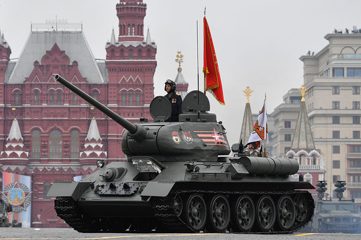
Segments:
[[[201,194],[194,193],[187,200],[185,223],[195,232],[204,228],[207,219],[207,208]]]

